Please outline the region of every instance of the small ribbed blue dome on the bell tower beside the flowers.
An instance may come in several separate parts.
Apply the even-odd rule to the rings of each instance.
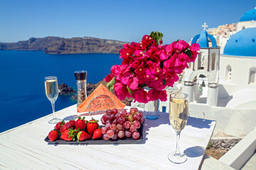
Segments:
[[[200,47],[209,47],[208,38],[212,42],[213,47],[217,47],[215,38],[213,37],[213,35],[208,34],[206,30],[202,30],[200,34],[196,35],[193,38],[191,44],[198,43]],[[198,42],[196,42],[197,40]]]

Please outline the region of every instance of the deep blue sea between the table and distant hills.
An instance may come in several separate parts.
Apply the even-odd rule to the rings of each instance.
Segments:
[[[58,84],[76,90],[74,72],[87,70],[87,82],[104,79],[119,55],[46,55],[41,51],[0,51],[0,132],[52,113],[44,77],[58,77]],[[55,111],[76,103],[72,95],[58,96]],[[46,122],[47,123],[47,122]]]

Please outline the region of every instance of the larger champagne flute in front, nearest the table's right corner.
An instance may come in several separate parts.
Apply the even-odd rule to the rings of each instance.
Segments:
[[[181,130],[185,128],[188,121],[188,94],[173,93],[170,95],[169,120],[176,132],[176,151],[171,152],[168,158],[175,164],[186,162],[186,154],[180,152],[179,139]]]

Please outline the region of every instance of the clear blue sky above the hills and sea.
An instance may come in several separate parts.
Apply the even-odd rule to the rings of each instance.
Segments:
[[[237,23],[255,6],[255,0],[0,0],[0,42],[46,36],[138,42],[152,30],[164,34],[164,43],[189,41],[204,22],[208,28]]]

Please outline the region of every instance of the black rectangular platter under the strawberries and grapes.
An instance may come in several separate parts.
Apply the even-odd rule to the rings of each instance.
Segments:
[[[137,144],[139,142],[142,142],[143,140],[143,125],[141,128],[138,129],[138,132],[140,134],[140,137],[138,140],[134,140],[128,137],[123,137],[122,139],[117,138],[117,140],[103,140],[103,138],[93,140],[92,138],[90,140],[84,140],[84,141],[65,141],[61,140],[60,136],[53,142],[51,142],[48,138],[48,136],[45,138],[45,141],[48,142],[48,144],[60,144],[60,145],[113,145],[113,144]]]

